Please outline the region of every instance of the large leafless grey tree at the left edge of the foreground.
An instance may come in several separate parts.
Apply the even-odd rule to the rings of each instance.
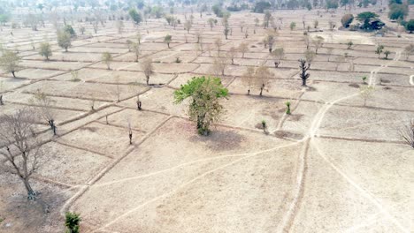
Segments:
[[[27,199],[36,199],[30,177],[38,169],[42,151],[35,136],[35,112],[19,109],[13,115],[1,116],[0,145],[4,146],[0,148],[0,154],[5,159],[0,162],[0,168],[19,177],[25,184]]]

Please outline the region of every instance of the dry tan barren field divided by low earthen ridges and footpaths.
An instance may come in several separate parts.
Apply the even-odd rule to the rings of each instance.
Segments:
[[[197,13],[189,33],[165,19],[140,26],[125,21],[121,34],[111,20],[97,34],[76,22],[76,30],[83,25],[93,37],[79,36],[68,52],[56,45],[47,23],[31,40],[37,48],[48,38],[50,61],[30,46],[30,28],[11,35],[4,27],[4,46],[19,48],[23,69],[17,78],[0,73],[0,112],[38,109],[33,98],[42,91],[52,101],[58,135],[47,122],[36,123],[45,139],[42,167],[32,178],[40,201],[28,201],[21,181],[0,170],[0,232],[63,232],[66,211],[80,214],[81,232],[414,232],[414,150],[398,133],[414,118],[414,62],[403,56],[414,34],[329,30],[328,21],[339,26],[345,12],[276,11],[283,22],[277,20],[274,48],[286,53],[278,68],[264,47],[266,30],[254,23],[263,14],[248,11],[232,12],[228,40],[220,23],[210,28],[212,15]],[[302,21],[314,19],[323,30],[309,34],[325,43],[303,87],[297,61],[306,50]],[[126,40],[138,31],[136,63]],[[195,49],[196,32],[211,51]],[[170,49],[166,34],[173,36]],[[218,38],[224,42],[219,52]],[[200,136],[188,105],[174,104],[173,92],[192,77],[213,75],[214,58],[242,42],[249,51],[219,75],[230,93],[222,101],[226,113],[211,135]],[[391,51],[387,60],[374,53],[379,44]],[[110,70],[103,52],[114,57]],[[338,58],[345,53],[349,59]],[[154,66],[149,86],[140,64],[145,57]],[[248,95],[243,73],[259,64],[272,78],[263,96],[257,86]],[[365,103],[361,86],[374,88]]]

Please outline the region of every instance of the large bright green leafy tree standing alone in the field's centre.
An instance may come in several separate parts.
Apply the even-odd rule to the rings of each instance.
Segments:
[[[174,103],[181,103],[190,99],[188,115],[190,120],[196,122],[197,132],[201,135],[210,133],[210,125],[219,120],[224,112],[219,103],[226,98],[228,90],[221,83],[221,79],[213,77],[194,77],[186,85],[181,85],[174,92]]]

